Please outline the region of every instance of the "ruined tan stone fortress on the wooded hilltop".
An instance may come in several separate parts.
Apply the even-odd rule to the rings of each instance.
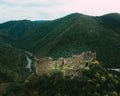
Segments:
[[[51,57],[40,58],[36,63],[36,74],[47,75],[52,70],[60,70],[65,76],[80,76],[82,70],[96,60],[96,53],[91,51],[83,52],[80,55],[73,55],[69,58],[59,58],[54,61]]]

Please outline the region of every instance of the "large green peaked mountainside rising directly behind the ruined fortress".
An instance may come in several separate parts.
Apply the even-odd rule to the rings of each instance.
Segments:
[[[120,14],[100,17],[70,14],[25,34],[16,46],[40,57],[54,58],[91,50],[107,67],[120,67]]]

